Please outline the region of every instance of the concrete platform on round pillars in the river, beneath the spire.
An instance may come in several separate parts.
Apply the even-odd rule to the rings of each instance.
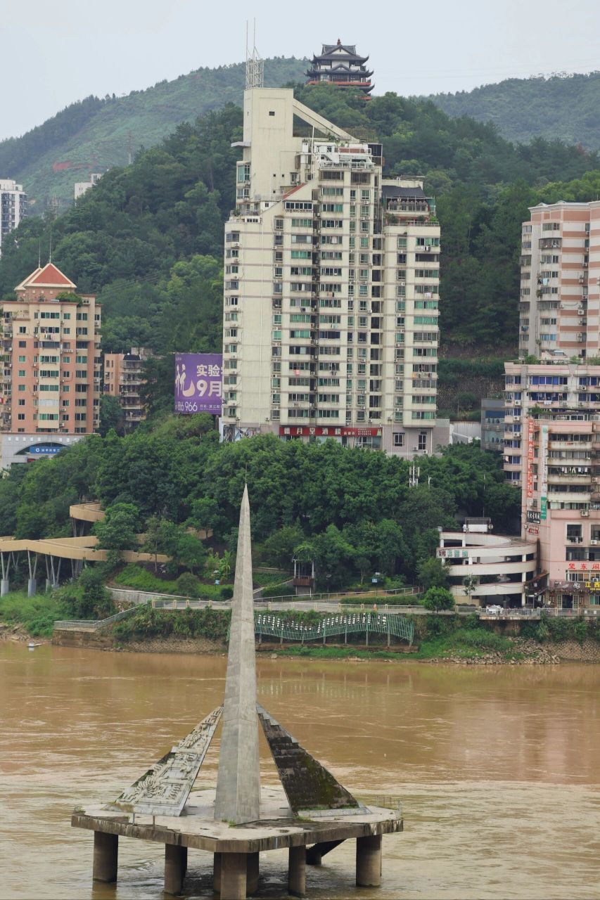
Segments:
[[[289,892],[305,896],[309,845],[327,852],[355,839],[356,883],[376,887],[381,881],[381,836],[403,829],[399,815],[377,806],[303,810],[295,817],[283,788],[262,788],[259,820],[231,826],[215,822],[214,794],[214,789],[192,792],[179,816],[133,815],[110,805],[79,807],[71,824],[94,832],[94,878],[116,880],[121,836],[165,845],[165,893],[182,892],[187,849],[193,848],[214,854],[214,892],[221,900],[243,900],[259,889],[259,853],[289,848]]]

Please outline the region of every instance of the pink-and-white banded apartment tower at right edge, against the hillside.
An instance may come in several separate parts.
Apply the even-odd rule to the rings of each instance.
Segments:
[[[598,354],[600,201],[540,203],[523,222],[519,357]]]

